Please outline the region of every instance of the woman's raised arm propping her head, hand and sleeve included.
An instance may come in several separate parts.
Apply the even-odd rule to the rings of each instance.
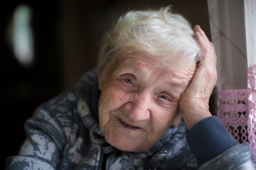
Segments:
[[[238,145],[220,119],[209,111],[209,98],[217,80],[213,43],[199,26],[193,29],[202,50],[201,61],[179,103],[190,130],[186,137],[200,169],[254,168],[250,147]],[[241,158],[241,155],[242,158]]]

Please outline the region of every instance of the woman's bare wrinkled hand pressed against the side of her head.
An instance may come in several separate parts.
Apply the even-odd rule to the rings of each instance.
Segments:
[[[190,84],[179,101],[179,108],[188,129],[200,120],[211,116],[208,103],[217,81],[217,56],[213,43],[208,40],[200,26],[195,26],[193,31],[201,47],[202,57]]]

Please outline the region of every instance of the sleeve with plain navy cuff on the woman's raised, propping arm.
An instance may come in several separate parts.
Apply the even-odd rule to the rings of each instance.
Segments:
[[[255,169],[249,145],[238,144],[218,117],[194,125],[186,140],[199,169]]]

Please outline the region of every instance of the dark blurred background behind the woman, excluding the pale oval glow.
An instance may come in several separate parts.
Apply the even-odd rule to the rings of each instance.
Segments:
[[[35,62],[29,68],[22,67],[7,43],[8,26],[20,4],[33,12]],[[5,1],[0,10],[2,169],[6,157],[16,155],[26,138],[24,121],[41,103],[72,88],[84,72],[95,67],[102,34],[122,13],[167,5],[192,26],[199,24],[210,38],[207,0]]]

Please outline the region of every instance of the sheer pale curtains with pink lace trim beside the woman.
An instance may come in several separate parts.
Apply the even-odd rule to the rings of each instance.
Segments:
[[[218,55],[218,117],[256,156],[256,0],[208,0]]]

